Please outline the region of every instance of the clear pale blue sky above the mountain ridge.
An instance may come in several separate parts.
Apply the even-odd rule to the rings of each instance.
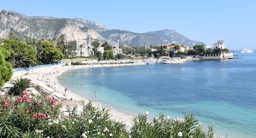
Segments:
[[[85,18],[108,29],[136,33],[175,29],[191,40],[226,48],[256,49],[256,1],[0,0],[0,9],[27,16]]]

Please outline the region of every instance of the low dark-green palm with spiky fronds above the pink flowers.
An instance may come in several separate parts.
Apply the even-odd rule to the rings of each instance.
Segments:
[[[16,80],[11,80],[11,84],[13,84],[13,87],[9,90],[9,95],[21,95],[21,93],[29,88],[32,83],[30,79],[23,79],[22,77],[18,79],[16,77]]]

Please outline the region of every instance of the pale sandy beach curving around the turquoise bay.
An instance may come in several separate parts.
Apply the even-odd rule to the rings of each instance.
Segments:
[[[142,64],[121,64],[121,65],[115,65],[115,64],[107,64],[107,65],[76,65],[76,66],[63,66],[63,67],[56,67],[54,68],[54,70],[43,70],[40,71],[40,73],[32,73],[32,74],[27,74],[27,75],[23,75],[23,76],[13,76],[11,80],[15,79],[15,77],[23,77],[23,78],[28,78],[30,80],[32,80],[33,84],[39,84],[39,83],[51,83],[54,84],[55,87],[57,87],[56,91],[58,93],[60,93],[61,95],[64,95],[65,92],[65,87],[61,86],[60,83],[58,83],[58,76],[60,76],[62,73],[64,73],[67,70],[74,70],[74,69],[79,69],[79,68],[92,68],[92,67],[120,67],[120,66],[129,66],[129,65],[142,65]],[[49,74],[49,71],[51,71],[51,74]],[[43,76],[42,74],[48,74]],[[73,106],[73,105],[77,105],[77,110],[78,111],[82,111],[82,102],[84,101],[85,103],[89,102],[88,99],[86,99],[85,97],[82,97],[80,95],[77,95],[74,92],[71,92],[70,90],[67,90],[65,97],[67,99],[71,99],[68,101],[58,101],[57,103],[60,103],[63,105],[63,108],[61,108],[61,111],[67,111],[66,107],[67,106]],[[102,108],[101,103],[96,103],[96,102],[92,102],[92,104],[94,106],[97,106],[98,108]],[[110,115],[111,118],[113,120],[116,121],[121,121],[123,123],[125,123],[127,126],[132,126],[132,120],[133,120],[133,116],[132,115],[127,115],[124,114],[123,112],[118,112],[115,111],[115,109],[110,109]]]

